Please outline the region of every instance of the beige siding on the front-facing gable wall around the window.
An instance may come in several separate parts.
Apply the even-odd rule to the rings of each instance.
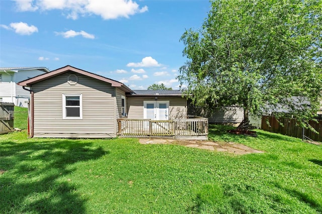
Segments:
[[[111,84],[76,74],[69,85],[65,73],[32,86],[34,137],[111,138],[115,131],[115,93]],[[83,119],[62,119],[62,94],[82,94]]]

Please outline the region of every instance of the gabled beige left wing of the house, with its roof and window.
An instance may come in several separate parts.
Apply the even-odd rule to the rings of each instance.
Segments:
[[[114,138],[122,97],[133,92],[70,65],[17,84],[30,87],[30,137]]]

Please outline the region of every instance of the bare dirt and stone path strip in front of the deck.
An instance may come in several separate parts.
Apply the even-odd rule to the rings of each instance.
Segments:
[[[213,141],[196,141],[196,140],[175,140],[175,139],[159,139],[159,138],[140,138],[140,144],[177,144],[191,148],[207,149],[218,152],[229,152],[237,155],[245,155],[251,153],[264,153],[263,151],[252,149],[243,144],[234,142],[213,142]]]

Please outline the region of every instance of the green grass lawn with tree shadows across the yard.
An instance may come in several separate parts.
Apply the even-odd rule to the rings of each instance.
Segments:
[[[237,156],[137,139],[0,136],[0,213],[321,213],[322,147],[258,131]]]

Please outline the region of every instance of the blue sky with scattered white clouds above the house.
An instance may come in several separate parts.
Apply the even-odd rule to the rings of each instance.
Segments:
[[[71,65],[131,89],[178,89],[185,29],[200,28],[208,1],[0,1],[0,67]]]

